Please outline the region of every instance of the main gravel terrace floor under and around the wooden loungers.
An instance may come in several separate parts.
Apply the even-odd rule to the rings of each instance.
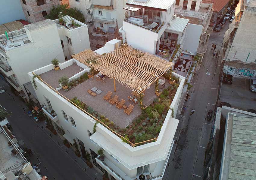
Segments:
[[[165,87],[169,87],[170,84],[166,81]],[[102,91],[101,94],[96,95],[93,97],[90,95],[87,90],[91,89],[93,87],[96,87]],[[161,87],[161,86],[160,86]],[[161,91],[163,89],[160,89]],[[105,101],[103,99],[103,96],[105,96],[108,91],[113,92],[112,96],[117,95],[120,101],[121,99],[125,100],[125,104],[129,106],[129,104],[134,105],[132,113],[130,115],[127,115],[124,113],[124,109],[118,109],[115,107],[115,105],[110,104],[108,101]],[[102,115],[106,116],[110,121],[113,121],[116,125],[118,125],[120,128],[125,128],[127,125],[129,125],[133,119],[135,119],[137,116],[141,114],[141,109],[139,107],[139,104],[133,104],[131,101],[128,100],[128,96],[132,96],[132,90],[129,88],[125,88],[120,83],[116,82],[116,92],[114,92],[114,81],[113,79],[106,78],[105,83],[102,81],[96,81],[96,79],[87,79],[85,82],[77,85],[70,91],[66,92],[63,89],[59,90],[62,95],[67,97],[68,99],[72,99],[74,97],[77,97],[81,101],[83,101],[86,105],[92,107],[95,111],[101,113]],[[154,99],[157,98],[155,95],[155,87],[154,85],[151,85],[149,89],[146,89],[145,96],[143,98],[143,104],[150,105]],[[137,98],[138,99],[138,98]]]

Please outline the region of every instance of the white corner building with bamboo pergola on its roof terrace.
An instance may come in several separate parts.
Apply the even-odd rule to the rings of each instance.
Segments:
[[[145,177],[147,177],[147,179],[162,179],[165,168],[167,167],[167,160],[170,156],[174,143],[174,134],[179,122],[179,120],[175,119],[175,117],[177,114],[178,104],[180,103],[185,78],[173,73],[173,76],[179,77],[179,85],[170,105],[171,109],[168,108],[167,115],[162,116],[163,124],[161,126],[161,131],[158,138],[154,138],[154,140],[149,141],[150,143],[142,145],[141,143],[134,144],[134,142],[130,143],[128,141],[125,143],[124,139],[120,139],[119,134],[115,134],[116,132],[114,133],[114,131],[117,130],[110,129],[113,129],[113,127],[120,127],[124,130],[119,133],[125,136],[124,134],[128,133],[128,130],[125,133],[126,128],[129,128],[129,126],[133,127],[134,123],[136,123],[134,119],[140,116],[141,107],[139,107],[139,103],[133,104],[132,101],[129,101],[127,98],[127,96],[130,96],[131,93],[135,93],[136,90],[132,90],[133,88],[129,87],[128,84],[121,84],[122,80],[118,74],[115,75],[114,81],[113,79],[110,79],[111,76],[107,73],[109,68],[104,67],[103,61],[105,61],[107,64],[108,60],[111,62],[115,61],[116,64],[123,64],[123,60],[127,59],[130,59],[130,62],[134,60],[140,62],[138,64],[142,65],[139,69],[137,67],[138,64],[136,63],[126,63],[126,65],[122,67],[127,68],[126,70],[136,69],[136,71],[134,70],[134,73],[137,74],[136,76],[133,76],[134,74],[131,74],[130,71],[126,71],[126,77],[133,77],[133,79],[137,77],[137,80],[138,78],[145,79],[145,81],[142,82],[143,84],[145,84],[145,82],[150,84],[151,82],[149,79],[147,79],[148,76],[138,76],[141,73],[145,73],[143,70],[145,67],[151,68],[151,66],[156,67],[159,64],[168,64],[164,68],[167,70],[172,66],[173,63],[165,61],[163,58],[159,58],[155,55],[140,52],[139,50],[133,49],[127,45],[120,46],[120,44],[120,40],[111,40],[103,48],[100,48],[95,52],[86,50],[74,55],[73,59],[59,64],[60,70],[58,71],[55,71],[53,69],[54,66],[49,64],[45,67],[33,70],[33,72],[28,73],[28,75],[31,81],[33,81],[32,77],[35,74],[40,75],[40,77],[37,77],[42,78],[44,81],[43,82],[38,78],[34,78],[37,86],[36,95],[40,104],[42,105],[42,110],[46,116],[52,120],[52,124],[58,134],[63,139],[66,139],[72,146],[74,146],[73,139],[76,140],[79,146],[79,152],[82,155],[81,158],[84,161],[88,160],[86,151],[89,152],[93,167],[102,175],[107,172],[108,178],[111,180],[139,179],[139,176],[142,175],[144,175],[144,179]],[[108,54],[103,55],[102,53]],[[123,53],[125,53],[125,55],[122,55]],[[105,74],[108,77],[103,80],[98,80],[99,76],[97,74],[94,76],[94,78],[89,78],[84,82],[81,82],[79,85],[76,85],[75,88],[69,88],[68,91],[58,88],[58,78],[60,78],[61,75],[68,75],[69,81],[72,82],[72,79],[80,77],[83,73],[90,70],[90,67],[86,65],[86,60],[98,58],[101,58],[101,60],[97,63],[97,65],[102,68],[99,71],[106,71]],[[142,59],[146,59],[146,61],[150,59],[151,64],[143,66],[144,62]],[[118,69],[121,66],[112,67]],[[155,68],[155,70],[158,68],[159,66]],[[115,72],[118,73],[121,71],[122,70],[120,69]],[[150,74],[148,75],[151,76]],[[149,84],[146,86],[143,85],[143,87],[146,88]],[[170,86],[168,82],[166,83],[166,88],[167,86]],[[92,92],[87,90],[93,87],[100,90],[97,91],[99,94],[89,94]],[[116,87],[116,89],[114,87]],[[111,95],[112,97],[117,95],[118,99],[122,99],[121,101],[124,100],[124,106],[126,105],[126,107],[121,107],[118,109],[116,105],[113,106],[108,101],[105,101],[103,98],[109,100],[109,98],[105,96],[108,91],[113,92],[113,95]],[[138,89],[138,91],[140,90]],[[68,100],[75,97],[77,98],[76,102],[82,102],[81,108],[75,106],[70,100]],[[148,87],[145,90],[143,103],[149,105],[154,101],[155,98],[157,98],[155,88],[154,85],[151,85],[151,87]],[[83,103],[86,105],[83,106]],[[124,110],[129,104],[133,104],[134,107],[132,112],[127,115],[124,113]],[[84,110],[85,108],[87,108],[88,112]],[[51,115],[52,110],[55,111],[56,116]],[[104,119],[105,116],[108,117],[108,120]],[[105,122],[106,124],[97,124],[96,122],[98,122],[98,119],[101,119],[101,121]],[[111,128],[108,128],[107,124]],[[143,131],[141,131],[141,133],[145,134]],[[100,148],[104,149],[103,160],[100,158],[97,152],[97,150]]]

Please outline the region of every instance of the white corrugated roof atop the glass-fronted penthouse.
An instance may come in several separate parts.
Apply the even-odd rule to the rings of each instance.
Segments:
[[[146,2],[141,2],[136,0],[127,0],[126,4],[153,7],[153,8],[158,8],[158,9],[167,11],[168,9],[170,9],[170,7],[174,2],[175,0],[148,0]]]

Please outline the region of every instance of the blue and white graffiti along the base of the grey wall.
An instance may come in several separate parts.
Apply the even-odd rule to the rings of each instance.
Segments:
[[[256,77],[256,70],[224,66],[223,72],[234,77]]]

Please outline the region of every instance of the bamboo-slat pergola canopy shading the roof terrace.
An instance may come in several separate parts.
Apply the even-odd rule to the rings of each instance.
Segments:
[[[96,63],[88,64],[88,60],[101,56],[94,51],[85,50],[73,55],[73,58],[114,78],[117,82],[138,94],[158,80],[167,72],[173,63],[148,52],[142,52],[128,45],[122,45],[104,56],[96,59]],[[86,62],[87,61],[87,62]]]

